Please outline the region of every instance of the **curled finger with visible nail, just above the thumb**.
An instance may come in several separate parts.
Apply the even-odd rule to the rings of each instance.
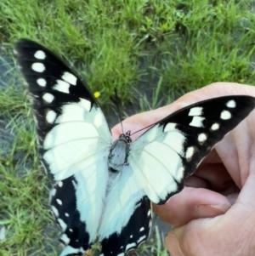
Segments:
[[[225,213],[229,200],[214,191],[185,187],[164,205],[153,205],[153,210],[171,225],[184,225],[191,219],[214,217]]]

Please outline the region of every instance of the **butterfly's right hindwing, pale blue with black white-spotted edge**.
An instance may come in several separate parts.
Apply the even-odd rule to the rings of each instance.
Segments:
[[[150,234],[150,200],[134,179],[133,172],[124,166],[112,181],[105,200],[105,210],[99,228],[101,256],[124,255],[139,247]]]

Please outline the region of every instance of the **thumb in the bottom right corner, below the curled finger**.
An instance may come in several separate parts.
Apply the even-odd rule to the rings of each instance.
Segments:
[[[173,228],[166,239],[169,252],[173,256],[255,255],[251,239],[255,235],[254,183],[255,174],[251,174],[226,213]]]

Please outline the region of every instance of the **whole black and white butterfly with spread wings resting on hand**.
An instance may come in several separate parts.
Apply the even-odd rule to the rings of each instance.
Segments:
[[[62,228],[61,256],[99,239],[100,255],[122,256],[150,233],[150,201],[181,191],[212,147],[254,108],[250,96],[204,100],[152,125],[131,145],[113,141],[105,116],[77,73],[42,45],[15,45],[28,83],[42,164],[56,181],[50,204]]]

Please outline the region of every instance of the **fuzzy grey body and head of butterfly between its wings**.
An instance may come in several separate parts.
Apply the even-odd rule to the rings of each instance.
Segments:
[[[108,156],[108,166],[111,172],[118,173],[122,170],[123,165],[127,164],[127,156],[132,139],[130,131],[121,134],[111,145],[110,154]]]

